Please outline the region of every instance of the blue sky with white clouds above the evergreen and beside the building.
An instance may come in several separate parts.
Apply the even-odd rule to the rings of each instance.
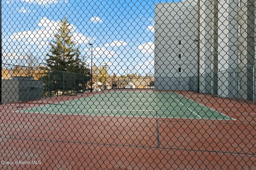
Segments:
[[[154,74],[154,3],[172,0],[2,1],[4,67],[20,64],[30,51],[44,65],[49,42],[67,18],[81,57],[110,74]],[[88,43],[92,43],[92,49]]]

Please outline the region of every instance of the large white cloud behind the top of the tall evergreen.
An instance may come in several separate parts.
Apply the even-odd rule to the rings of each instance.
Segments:
[[[38,45],[47,45],[47,41],[50,41],[54,37],[54,32],[60,29],[60,21],[51,21],[48,18],[42,18],[37,24],[40,29],[34,29],[33,31],[23,31],[14,33],[10,36],[9,41],[23,41],[25,44],[38,44]],[[74,32],[74,40],[78,44],[86,44],[89,42],[89,39],[84,36],[82,33],[75,31],[74,25],[70,24],[68,27],[70,31]]]

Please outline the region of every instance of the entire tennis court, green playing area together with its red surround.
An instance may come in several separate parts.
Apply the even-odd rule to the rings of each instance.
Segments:
[[[239,129],[240,119],[234,119],[234,114],[225,115],[231,106],[220,113],[217,107],[215,111],[187,96],[153,90],[109,90],[46,98],[24,106],[6,105],[10,112],[1,115],[1,139],[10,146],[4,145],[0,152],[10,160],[43,162],[22,165],[24,169],[47,169],[56,162],[58,167],[69,169],[182,169],[188,163],[197,166],[194,160],[199,160],[201,153],[212,168],[223,157],[244,161],[241,166],[255,161],[255,140],[242,141],[238,134],[247,129]],[[216,99],[209,102],[212,100]],[[223,134],[232,137],[222,138]],[[240,147],[242,142],[248,145]],[[15,152],[19,153],[10,155]],[[108,164],[98,163],[102,160]],[[3,167],[7,169],[7,165]]]

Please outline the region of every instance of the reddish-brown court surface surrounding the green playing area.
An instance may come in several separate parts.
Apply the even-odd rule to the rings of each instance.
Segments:
[[[256,169],[255,105],[178,93],[237,120],[14,112],[91,93],[3,104],[0,160],[30,164],[0,169]]]

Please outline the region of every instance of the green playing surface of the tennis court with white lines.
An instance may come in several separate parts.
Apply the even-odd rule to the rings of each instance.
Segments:
[[[174,92],[110,92],[20,113],[235,120]]]

